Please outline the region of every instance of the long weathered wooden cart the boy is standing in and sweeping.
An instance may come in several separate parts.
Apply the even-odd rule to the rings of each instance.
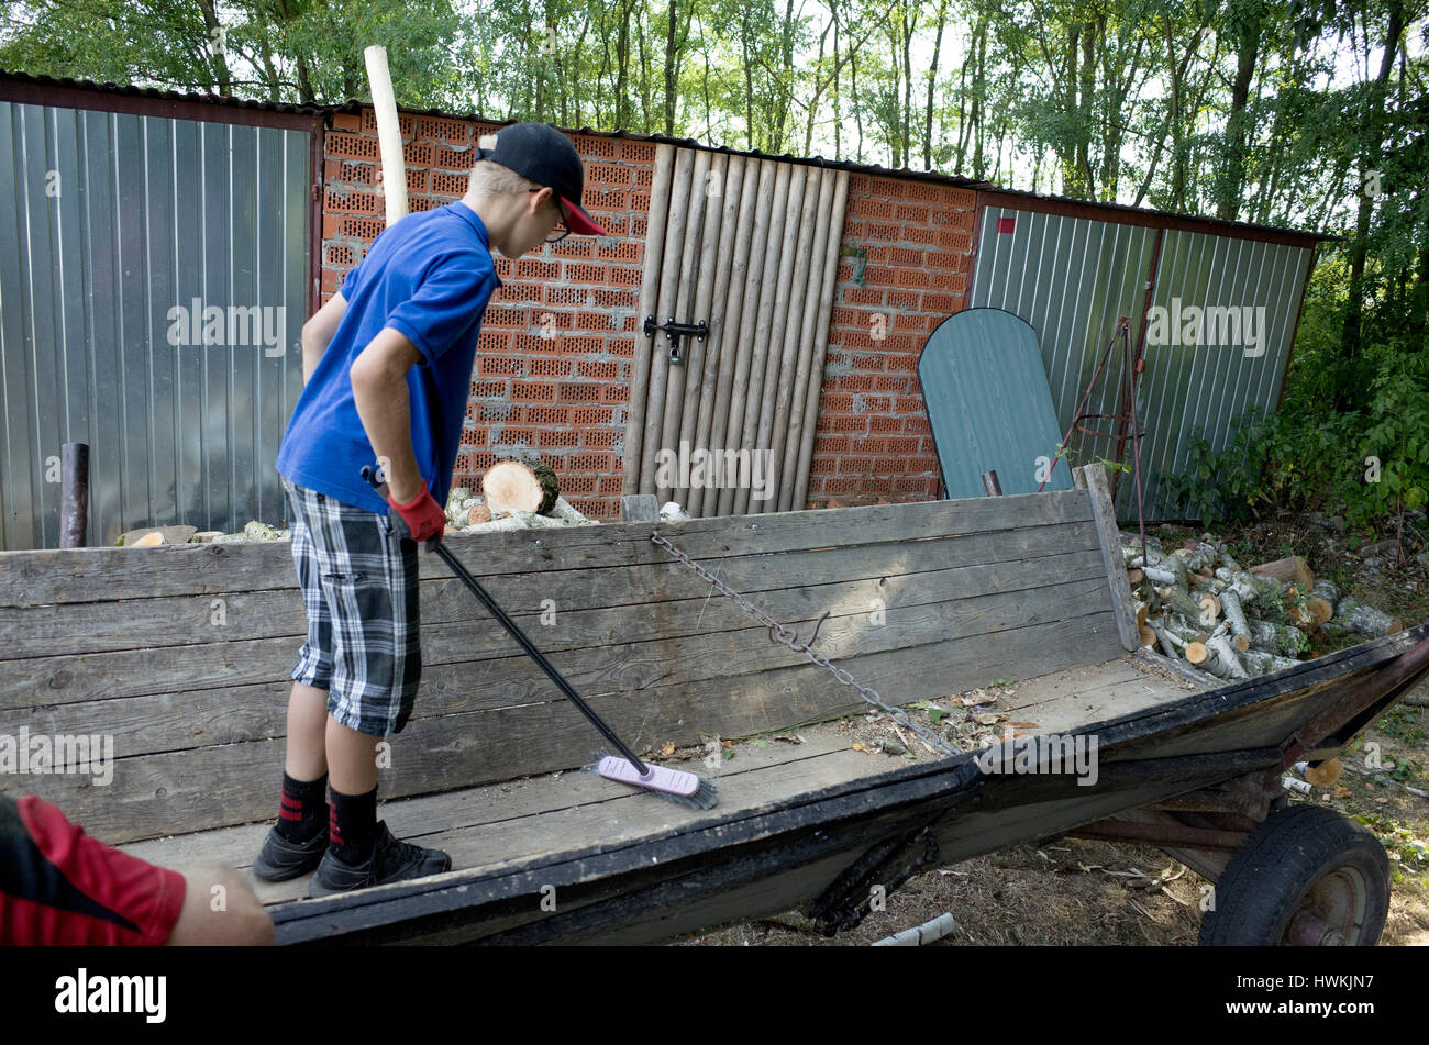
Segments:
[[[422,692],[379,815],[454,869],[324,899],[306,878],[257,882],[279,942],[643,942],[793,908],[836,932],[920,868],[1057,834],[1156,844],[1215,881],[1203,942],[1373,942],[1383,849],[1288,807],[1280,779],[1429,671],[1429,622],[1250,681],[1177,668],[1136,648],[1105,474],[1079,474],[1070,491],[657,531],[800,637],[827,614],[812,650],[887,704],[1016,680],[1013,718],[1063,751],[1095,741],[1095,781],[990,772],[986,751],[852,749],[839,720],[865,700],[770,642],[652,524],[459,534],[449,547],[629,742],[710,748],[679,765],[720,802],[572,771],[600,738],[423,555]],[[0,552],[0,734],[114,748],[109,784],[0,788],[156,862],[247,867],[277,808],[304,630],[286,542]]]

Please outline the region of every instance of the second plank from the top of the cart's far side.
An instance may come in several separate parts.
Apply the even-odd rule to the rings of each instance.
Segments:
[[[1096,532],[1086,522],[1065,522],[1002,534],[933,538],[909,557],[902,542],[863,545],[849,551],[820,550],[760,555],[732,555],[716,564],[717,575],[736,591],[757,595],[786,587],[807,587],[812,578],[847,581],[939,568],[992,565],[1046,558],[1040,581],[1055,581],[1070,555],[1096,550]],[[1097,552],[1100,555],[1100,552]],[[562,611],[632,607],[644,608],[652,592],[660,601],[682,592],[703,597],[707,585],[682,562],[590,570],[487,572],[477,580],[514,618],[544,615],[547,601]],[[292,570],[287,571],[292,574]],[[284,577],[286,580],[286,577]],[[949,578],[957,582],[959,578]],[[430,578],[419,584],[423,625],[472,620],[483,615],[474,597],[456,578]],[[303,597],[297,587],[274,587],[221,595],[176,595],[111,602],[66,602],[43,607],[0,608],[0,665],[6,660],[89,654],[107,650],[237,642],[296,635],[307,631]],[[0,667],[3,671],[3,667]],[[0,682],[3,688],[3,682]]]

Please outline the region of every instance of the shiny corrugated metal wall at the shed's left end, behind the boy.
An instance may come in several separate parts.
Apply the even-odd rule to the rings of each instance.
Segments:
[[[282,522],[309,167],[307,131],[0,103],[0,547],[59,547],[70,441],[90,544]]]

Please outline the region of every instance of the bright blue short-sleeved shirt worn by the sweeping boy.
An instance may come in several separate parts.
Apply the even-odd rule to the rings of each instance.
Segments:
[[[377,454],[357,415],[349,370],[392,327],[422,353],[407,371],[412,450],[432,497],[446,507],[482,314],[500,286],[486,226],[460,200],[384,228],[343,281],[347,311],[293,408],[277,471],[344,504],[387,513],[362,478]]]

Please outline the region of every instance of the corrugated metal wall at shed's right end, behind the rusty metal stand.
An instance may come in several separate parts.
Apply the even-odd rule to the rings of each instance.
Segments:
[[[983,208],[977,258],[967,307],[1010,311],[1037,331],[1042,360],[1052,388],[1060,433],[1076,417],[1096,361],[1116,330],[1119,317],[1132,321],[1135,347],[1152,276],[1157,230],[1083,217],[1043,214],[987,204]],[[1156,470],[1179,473],[1189,461],[1198,424],[1218,450],[1229,438],[1229,421],[1256,404],[1275,410],[1280,395],[1290,338],[1309,266],[1309,248],[1229,236],[1179,231],[1162,234],[1152,307],[1166,308],[1167,320],[1180,307],[1265,308],[1265,343],[1232,345],[1147,344],[1140,375],[1137,420],[1142,443],[1145,510],[1149,520],[1180,517],[1166,503]],[[1086,410],[1120,411],[1119,365],[1125,353],[1112,353]],[[1095,420],[1087,427],[1116,431],[1116,423]],[[1077,463],[1089,454],[1115,458],[1112,440],[1073,438]],[[1132,464],[1132,444],[1126,445]],[[1059,465],[1060,467],[1060,465]],[[1116,495],[1117,515],[1136,515],[1135,484],[1123,474]]]

